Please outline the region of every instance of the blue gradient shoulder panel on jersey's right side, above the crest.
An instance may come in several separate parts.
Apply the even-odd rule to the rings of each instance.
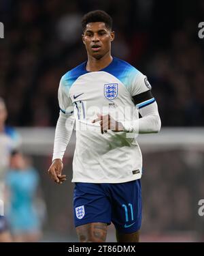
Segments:
[[[116,78],[119,79],[126,87],[131,85],[131,79],[139,73],[139,70],[131,66],[131,64],[116,57],[114,57],[109,66],[101,71],[105,71],[116,76]]]

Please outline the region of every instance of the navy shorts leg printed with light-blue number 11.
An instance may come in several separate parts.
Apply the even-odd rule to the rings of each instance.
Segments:
[[[112,222],[117,233],[131,234],[139,231],[142,216],[140,180],[113,185]]]

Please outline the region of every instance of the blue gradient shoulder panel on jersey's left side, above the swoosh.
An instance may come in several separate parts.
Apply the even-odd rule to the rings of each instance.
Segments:
[[[73,83],[78,79],[79,76],[87,73],[86,69],[84,68],[85,63],[86,61],[64,74],[63,79],[65,82],[65,86],[71,87],[71,85],[73,85]]]

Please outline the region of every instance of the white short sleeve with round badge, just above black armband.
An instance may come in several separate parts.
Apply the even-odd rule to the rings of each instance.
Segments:
[[[131,96],[136,96],[142,94],[145,91],[152,89],[150,83],[148,82],[147,76],[143,75],[137,70],[137,74],[131,79],[130,93]]]

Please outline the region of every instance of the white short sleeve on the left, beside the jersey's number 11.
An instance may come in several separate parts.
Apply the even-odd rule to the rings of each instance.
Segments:
[[[73,104],[69,97],[69,86],[66,85],[64,76],[61,78],[58,87],[58,104],[63,113],[67,115],[71,115],[73,113]]]

